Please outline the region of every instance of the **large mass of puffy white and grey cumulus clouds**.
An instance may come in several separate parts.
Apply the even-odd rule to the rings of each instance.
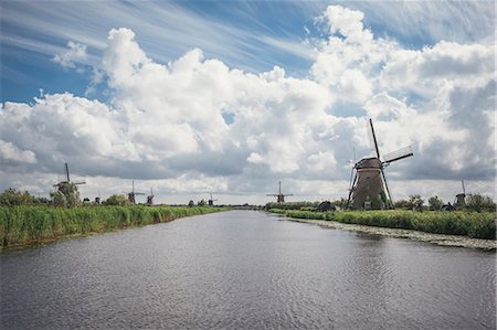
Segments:
[[[342,187],[346,195],[352,149],[372,151],[367,117],[339,115],[359,108],[373,118],[382,153],[414,148],[414,158],[388,169],[393,185],[493,180],[494,49],[440,42],[406,50],[376,38],[363,18],[328,7],[319,18],[326,38],[315,41],[305,78],[278,66],[246,73],[199,49],[157,63],[139,35],[113,29],[98,67],[109,102],[65,93],[6,103],[0,156],[46,171],[76,162],[84,175],[156,179],[181,192],[264,192],[287,178],[303,193]],[[61,65],[77,60],[70,51]]]

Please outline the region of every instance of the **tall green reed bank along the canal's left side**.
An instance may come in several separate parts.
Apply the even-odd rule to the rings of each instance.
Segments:
[[[178,217],[205,214],[228,209],[197,206],[49,206],[0,207],[2,248],[53,241],[70,235],[168,222]]]

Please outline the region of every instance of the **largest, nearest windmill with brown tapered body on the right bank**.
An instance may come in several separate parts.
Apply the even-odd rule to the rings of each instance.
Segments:
[[[362,158],[355,163],[352,172],[356,170],[356,175],[353,177],[353,181],[350,180],[347,207],[355,210],[393,209],[389,185],[387,184],[387,178],[383,170],[394,161],[413,156],[413,152],[411,147],[406,147],[385,155],[383,160],[381,160],[371,119],[369,119],[369,124],[371,126],[377,157]],[[350,179],[352,179],[352,177],[350,177]]]

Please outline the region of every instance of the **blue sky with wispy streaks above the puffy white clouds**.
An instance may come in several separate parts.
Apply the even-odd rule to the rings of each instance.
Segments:
[[[54,55],[73,40],[88,44],[88,61],[95,61],[107,32],[120,26],[134,30],[158,62],[200,47],[230,67],[263,72],[278,65],[302,77],[311,65],[306,51],[313,47],[303,43],[321,34],[316,18],[329,3],[363,10],[364,25],[376,35],[412,49],[440,40],[478,41],[491,33],[494,21],[491,2],[485,1],[3,1],[1,102],[31,102],[40,88],[84,95],[89,67],[80,65],[83,73],[61,67]],[[433,26],[425,24],[423,15],[437,10],[446,13],[441,12]],[[89,96],[105,102],[99,92]]]

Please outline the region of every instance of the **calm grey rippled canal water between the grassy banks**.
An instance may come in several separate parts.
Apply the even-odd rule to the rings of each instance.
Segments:
[[[224,212],[0,255],[1,328],[495,329],[495,257]]]

